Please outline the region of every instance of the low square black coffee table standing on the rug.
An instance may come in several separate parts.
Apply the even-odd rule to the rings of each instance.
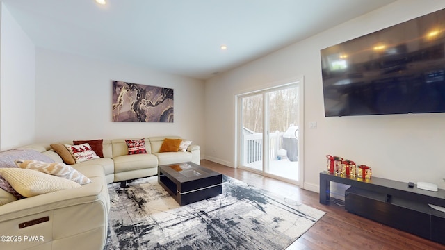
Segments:
[[[181,206],[216,197],[222,192],[223,176],[195,163],[179,163],[158,167],[158,183]]]

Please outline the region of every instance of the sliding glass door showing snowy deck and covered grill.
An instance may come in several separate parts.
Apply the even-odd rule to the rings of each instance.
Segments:
[[[238,96],[240,166],[298,182],[298,85]]]

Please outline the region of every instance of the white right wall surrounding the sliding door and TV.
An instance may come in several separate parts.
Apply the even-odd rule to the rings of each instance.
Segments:
[[[445,8],[445,1],[401,0],[206,82],[206,158],[234,166],[234,94],[305,78],[305,176],[318,192],[327,154],[369,165],[373,176],[430,181],[445,188],[445,113],[324,117],[320,50]],[[317,122],[318,128],[309,128]],[[217,133],[216,133],[217,131]]]

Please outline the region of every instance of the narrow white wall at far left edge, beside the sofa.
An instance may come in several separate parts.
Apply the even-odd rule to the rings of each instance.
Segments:
[[[0,150],[35,137],[35,47],[1,3]]]

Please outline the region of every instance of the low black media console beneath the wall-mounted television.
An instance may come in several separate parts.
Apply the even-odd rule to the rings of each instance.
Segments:
[[[445,190],[421,190],[408,183],[372,177],[371,180],[320,173],[320,203],[330,201],[330,182],[350,185],[345,208],[375,222],[445,244],[445,213],[428,204],[445,207]]]

